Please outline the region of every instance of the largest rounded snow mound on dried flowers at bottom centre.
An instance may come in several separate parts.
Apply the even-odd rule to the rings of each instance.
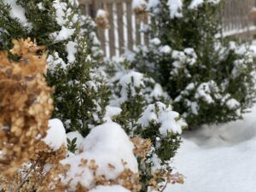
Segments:
[[[79,183],[88,189],[93,189],[96,184],[94,177],[103,176],[114,180],[124,172],[125,168],[137,173],[137,159],[133,154],[133,148],[133,143],[120,125],[116,123],[98,125],[84,138],[80,154],[61,160],[62,165],[70,165],[67,177],[62,182],[70,182],[70,190],[75,190]],[[95,160],[98,166],[95,176],[90,165],[81,166],[83,160],[88,162]]]

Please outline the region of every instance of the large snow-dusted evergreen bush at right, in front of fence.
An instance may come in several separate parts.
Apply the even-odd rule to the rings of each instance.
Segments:
[[[167,90],[191,128],[240,119],[255,96],[252,52],[222,37],[221,4],[149,1],[151,40],[133,60]]]

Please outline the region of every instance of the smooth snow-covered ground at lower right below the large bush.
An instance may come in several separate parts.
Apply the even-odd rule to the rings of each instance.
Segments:
[[[185,183],[166,192],[256,191],[256,106],[251,110],[243,120],[185,133],[173,162]]]

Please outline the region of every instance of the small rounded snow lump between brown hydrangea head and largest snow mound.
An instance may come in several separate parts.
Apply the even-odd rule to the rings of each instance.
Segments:
[[[61,148],[63,144],[67,145],[66,131],[61,120],[49,119],[49,130],[42,141],[55,151]]]

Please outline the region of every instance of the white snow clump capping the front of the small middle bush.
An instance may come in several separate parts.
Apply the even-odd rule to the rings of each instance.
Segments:
[[[171,106],[166,106],[162,102],[155,102],[155,104],[150,104],[145,108],[143,115],[137,120],[137,124],[142,125],[143,129],[146,129],[152,121],[160,124],[160,134],[166,137],[168,132],[182,133],[183,126],[186,126],[186,123],[178,117],[179,114],[172,111]]]

